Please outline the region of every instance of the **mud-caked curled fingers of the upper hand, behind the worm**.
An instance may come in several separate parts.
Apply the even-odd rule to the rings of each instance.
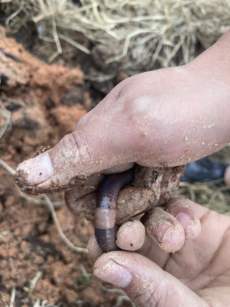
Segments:
[[[136,165],[134,186],[125,187],[118,194],[115,225],[119,226],[133,216],[161,206],[174,197],[183,172],[184,166],[160,168]],[[17,178],[23,176],[20,173],[16,175]],[[25,185],[22,186],[26,188]],[[78,201],[78,191],[75,188],[65,194],[65,199],[73,214],[94,221],[97,192],[86,194],[84,201]]]

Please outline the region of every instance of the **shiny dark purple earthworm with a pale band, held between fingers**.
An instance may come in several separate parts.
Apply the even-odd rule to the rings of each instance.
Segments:
[[[102,181],[95,211],[95,237],[104,253],[117,251],[115,237],[116,201],[121,188],[132,184],[135,168],[110,175]]]

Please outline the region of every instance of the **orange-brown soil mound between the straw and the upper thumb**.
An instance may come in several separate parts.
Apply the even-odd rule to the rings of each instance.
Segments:
[[[82,90],[83,72],[79,67],[48,65],[7,37],[1,37],[0,49],[20,59],[15,61],[0,52],[0,77],[2,72],[6,77],[5,82],[1,77],[0,99],[11,111],[12,123],[1,144],[7,140],[7,157],[19,163],[41,144],[53,147],[71,132],[89,110],[90,97]],[[66,115],[68,108],[71,118]],[[1,144],[4,158],[6,150]]]

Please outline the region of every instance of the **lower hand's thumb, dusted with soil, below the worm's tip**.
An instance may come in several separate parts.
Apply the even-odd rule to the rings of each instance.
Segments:
[[[94,266],[94,275],[123,288],[139,307],[205,307],[207,303],[148,258],[127,251],[105,253]]]

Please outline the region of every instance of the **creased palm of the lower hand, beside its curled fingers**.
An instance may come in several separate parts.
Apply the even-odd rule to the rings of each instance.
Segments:
[[[155,247],[155,255],[146,256],[193,291],[229,286],[230,217],[193,204],[201,221],[199,237],[186,240],[175,253],[167,254]]]

